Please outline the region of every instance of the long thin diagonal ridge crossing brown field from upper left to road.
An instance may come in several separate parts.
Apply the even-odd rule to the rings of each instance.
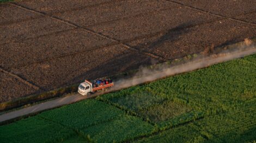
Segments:
[[[36,13],[36,14],[47,15],[45,12],[40,12],[40,11],[31,9],[31,8],[27,8],[26,6],[22,6],[22,5],[19,5],[19,4],[16,4],[16,3],[10,3],[10,5],[14,5],[14,6],[16,6],[17,8],[24,9],[24,10],[27,10],[27,11],[31,11],[31,12],[34,12],[34,13]],[[68,24],[68,25],[70,25],[70,26],[72,26],[72,27],[75,27],[75,28],[82,28],[82,29],[84,29],[85,31],[89,32],[90,34],[94,34],[94,35],[97,35],[97,36],[106,38],[106,39],[108,39],[108,40],[110,40],[110,41],[112,41],[112,42],[120,42],[119,40],[116,40],[116,39],[114,39],[114,38],[111,38],[111,37],[106,36],[106,35],[103,35],[103,34],[99,34],[99,33],[95,32],[95,31],[93,31],[93,30],[90,30],[90,29],[86,28],[86,27],[80,27],[80,26],[77,25],[77,24],[71,23],[71,22],[69,22],[69,21],[65,21],[64,19],[58,18],[58,17],[56,17],[56,16],[50,16],[50,15],[47,15],[47,16],[49,16],[50,18],[55,19],[55,20],[57,20],[57,21],[59,21],[59,22],[63,22],[63,23],[65,23],[65,24]],[[136,49],[136,48],[132,48],[132,47],[126,45],[126,44],[122,44],[122,43],[121,43],[121,45],[122,45],[124,48],[126,48],[126,49],[129,49],[129,50],[132,50],[132,51],[137,51],[138,53],[141,53],[141,54],[144,54],[144,55],[153,57],[153,58],[155,58],[155,59],[157,59],[157,60],[160,60],[160,61],[167,61],[167,60],[164,59],[163,57],[158,56],[158,55],[155,55],[155,54],[153,54],[153,53],[141,51],[141,50],[138,50],[138,49]]]

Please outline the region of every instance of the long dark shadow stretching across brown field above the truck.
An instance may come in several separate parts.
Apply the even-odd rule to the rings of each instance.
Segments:
[[[179,40],[180,35],[186,34],[188,32],[188,29],[185,27],[189,25],[190,23],[182,23],[175,28],[169,29],[164,35],[159,37],[157,40],[151,42],[150,44],[145,45],[143,43],[133,48],[141,50],[144,47],[154,50],[155,47],[161,46],[161,44],[163,44],[164,42],[173,42]],[[78,75],[73,79],[70,79],[67,83],[78,83],[82,82],[84,79],[94,80],[98,77],[111,76],[114,74],[127,72],[128,70],[138,69],[141,66],[149,66],[151,64],[156,64],[159,62],[160,61],[152,59],[151,57],[130,51],[125,54],[119,54],[115,56],[114,59],[105,61],[99,66],[89,69],[84,74]],[[81,67],[73,69],[71,72],[75,72],[80,68]]]

